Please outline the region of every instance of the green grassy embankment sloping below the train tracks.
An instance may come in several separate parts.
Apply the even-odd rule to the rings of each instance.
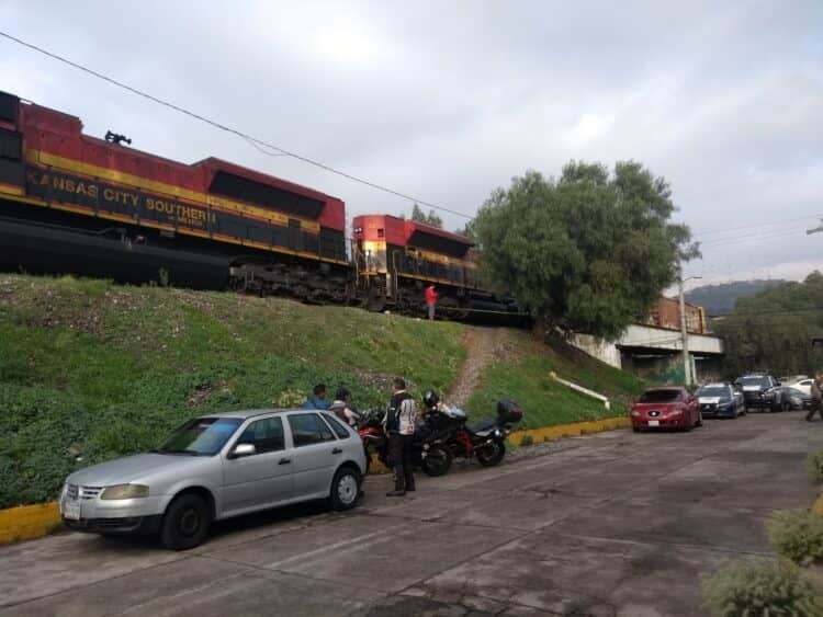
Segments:
[[[282,299],[0,275],[0,507],[53,499],[70,471],[154,447],[193,415],[300,404],[318,381],[347,385],[361,409],[385,404],[394,375],[416,393],[447,391],[463,333]],[[610,396],[636,388],[510,336],[512,355],[486,370],[470,411],[491,413],[487,401],[505,397],[527,409],[527,426],[604,415],[550,382],[551,369]]]

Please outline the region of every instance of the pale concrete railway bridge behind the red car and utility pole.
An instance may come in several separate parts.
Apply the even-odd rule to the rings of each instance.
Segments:
[[[654,381],[683,382],[683,338],[679,330],[635,323],[613,342],[577,334],[573,344],[589,355]],[[695,382],[719,378],[723,340],[711,334],[688,334]]]

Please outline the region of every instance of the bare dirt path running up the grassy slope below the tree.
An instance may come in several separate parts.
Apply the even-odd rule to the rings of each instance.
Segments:
[[[469,327],[463,345],[466,358],[460,367],[458,378],[444,401],[464,408],[477,386],[483,370],[494,362],[505,361],[514,355],[514,341],[505,328]]]

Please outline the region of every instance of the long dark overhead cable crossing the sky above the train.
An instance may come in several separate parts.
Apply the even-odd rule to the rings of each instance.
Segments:
[[[133,94],[137,94],[138,96],[143,96],[144,99],[147,99],[147,100],[151,101],[153,103],[157,103],[158,105],[162,105],[165,107],[168,107],[170,110],[173,110],[176,112],[184,114],[184,115],[187,115],[189,117],[192,117],[194,119],[198,119],[200,122],[208,124],[208,125],[211,125],[214,128],[218,128],[219,130],[223,130],[225,133],[230,133],[232,135],[236,135],[237,137],[240,137],[241,139],[245,139],[246,141],[248,141],[252,146],[256,146],[256,147],[257,146],[263,146],[266,148],[270,148],[271,150],[275,150],[278,152],[278,153],[264,152],[264,151],[260,150],[260,148],[258,148],[258,150],[260,150],[264,155],[292,157],[293,159],[303,161],[305,163],[308,163],[308,164],[314,165],[316,168],[319,168],[322,170],[328,171],[328,172],[334,173],[336,175],[339,175],[341,178],[346,178],[347,180],[351,180],[353,182],[358,182],[360,184],[364,184],[365,186],[370,186],[371,188],[375,188],[377,191],[382,191],[383,193],[388,193],[390,195],[394,195],[395,197],[401,197],[401,198],[406,199],[408,202],[414,202],[416,204],[424,205],[424,206],[426,206],[428,208],[432,208],[432,209],[436,209],[436,210],[441,210],[441,212],[444,212],[444,213],[449,213],[449,214],[452,214],[454,216],[459,216],[459,217],[462,217],[462,218],[465,218],[465,219],[469,219],[469,220],[472,220],[474,218],[474,217],[472,217],[470,215],[466,215],[466,214],[463,214],[463,213],[459,213],[458,210],[452,210],[450,208],[447,208],[447,207],[443,207],[443,206],[439,206],[439,205],[432,204],[430,202],[426,202],[425,199],[419,199],[419,198],[414,197],[412,195],[407,195],[407,194],[402,193],[399,191],[395,191],[394,188],[390,188],[388,186],[384,186],[382,184],[377,184],[376,182],[372,182],[371,180],[365,180],[363,178],[359,178],[357,175],[347,173],[345,171],[340,171],[340,170],[335,169],[335,168],[332,168],[330,165],[327,165],[326,163],[323,163],[320,161],[316,161],[316,160],[311,159],[308,157],[305,157],[303,155],[298,155],[298,153],[293,152],[291,150],[286,150],[285,148],[281,148],[280,146],[274,146],[273,144],[269,144],[269,142],[264,141],[263,139],[258,139],[257,137],[253,137],[251,135],[243,133],[241,130],[239,130],[237,128],[233,128],[233,127],[227,126],[225,124],[222,124],[222,123],[219,123],[219,122],[217,122],[215,119],[202,116],[202,115],[200,115],[198,113],[194,113],[192,111],[187,110],[185,107],[181,107],[179,105],[176,105],[174,103],[170,103],[169,101],[166,101],[164,99],[159,99],[158,96],[155,96],[153,94],[144,92],[143,90],[138,90],[137,88],[134,88],[132,85],[123,83],[122,81],[117,81],[114,78],[111,78],[111,77],[109,77],[106,75],[103,75],[103,73],[98,72],[98,71],[95,71],[93,69],[90,69],[89,67],[86,67],[83,65],[80,65],[78,62],[69,60],[68,58],[65,58],[65,57],[59,56],[57,54],[54,54],[54,53],[52,53],[52,52],[49,52],[47,49],[44,49],[43,47],[38,47],[37,45],[33,45],[32,43],[27,43],[27,42],[25,42],[25,41],[23,41],[21,38],[18,38],[16,36],[12,36],[11,34],[9,34],[7,32],[0,31],[0,36],[3,36],[4,38],[8,38],[9,41],[12,41],[12,42],[14,42],[14,43],[16,43],[19,45],[22,45],[23,47],[27,47],[29,49],[32,49],[32,50],[37,52],[40,54],[43,54],[44,56],[48,56],[52,59],[55,59],[55,60],[57,60],[59,62],[68,65],[70,67],[72,67],[75,69],[78,69],[78,70],[80,70],[82,72],[86,72],[86,73],[88,73],[88,75],[90,75],[92,77],[95,77],[98,79],[102,79],[103,81],[106,81],[106,82],[109,82],[109,83],[111,83],[113,85],[116,85],[117,88],[122,88],[123,90],[127,90],[128,92],[132,92]]]

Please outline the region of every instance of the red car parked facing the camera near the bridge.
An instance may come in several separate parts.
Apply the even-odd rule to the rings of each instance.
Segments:
[[[703,425],[700,403],[686,388],[667,386],[649,388],[632,404],[632,429],[681,429],[691,431]]]

